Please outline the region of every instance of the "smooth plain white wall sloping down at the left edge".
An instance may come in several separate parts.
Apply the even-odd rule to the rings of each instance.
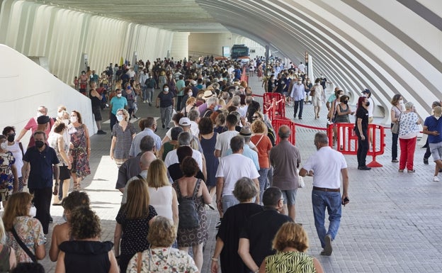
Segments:
[[[37,113],[37,108],[44,105],[48,116],[57,116],[57,107],[64,105],[67,111],[77,110],[81,113],[83,123],[89,128],[89,134],[96,131],[92,118],[91,100],[64,84],[45,69],[35,64],[20,52],[0,44],[0,86],[4,91],[0,96],[0,130],[6,126],[15,126],[16,133],[28,123],[29,118]],[[23,137],[26,147],[31,133]]]

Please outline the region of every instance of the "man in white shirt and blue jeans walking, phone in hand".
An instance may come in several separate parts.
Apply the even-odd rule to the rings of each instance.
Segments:
[[[341,204],[345,206],[349,201],[347,162],[341,152],[329,147],[329,139],[325,133],[314,135],[314,145],[317,152],[300,169],[300,176],[313,177],[314,226],[324,248],[321,255],[330,256],[333,251],[331,241],[336,238],[341,223]],[[342,196],[340,176],[342,176]],[[329,213],[329,230],[324,226],[326,208]]]

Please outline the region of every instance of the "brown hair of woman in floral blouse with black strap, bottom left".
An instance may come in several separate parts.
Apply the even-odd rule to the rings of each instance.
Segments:
[[[3,223],[6,231],[12,230],[13,221],[17,216],[29,216],[28,204],[32,199],[33,196],[24,191],[9,196],[8,204],[6,204],[3,213]]]

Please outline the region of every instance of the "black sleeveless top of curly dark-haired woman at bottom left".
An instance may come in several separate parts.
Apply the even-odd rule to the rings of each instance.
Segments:
[[[66,273],[108,273],[111,261],[108,252],[113,243],[99,241],[66,241],[60,244]]]

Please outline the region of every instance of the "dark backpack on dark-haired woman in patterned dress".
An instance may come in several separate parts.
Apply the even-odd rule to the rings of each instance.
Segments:
[[[178,215],[179,228],[198,228],[200,225],[200,216],[198,215],[198,206],[195,203],[195,196],[200,189],[201,179],[196,181],[195,189],[193,189],[192,196],[181,196],[181,189],[178,181],[176,182],[176,189],[178,189]]]

